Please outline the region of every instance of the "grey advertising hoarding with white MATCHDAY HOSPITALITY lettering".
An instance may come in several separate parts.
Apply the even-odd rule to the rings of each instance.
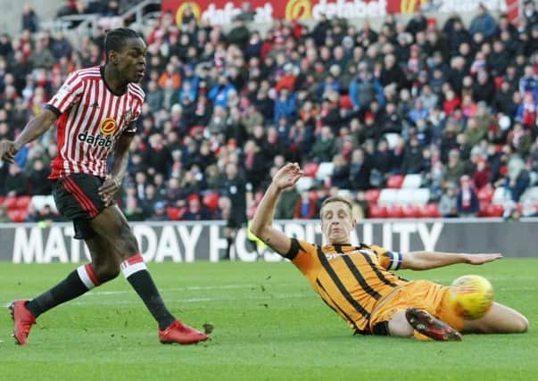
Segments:
[[[319,223],[286,220],[277,222],[286,235],[323,244]],[[219,261],[226,252],[221,221],[203,223],[139,222],[132,224],[146,261]],[[536,257],[538,219],[502,221],[482,219],[367,220],[352,234],[352,244],[379,244],[409,252],[437,250],[458,253],[503,253],[506,257]],[[281,261],[270,250],[261,249],[265,261]],[[70,223],[50,228],[37,224],[0,224],[0,261],[49,263],[87,261],[86,245],[73,239]],[[260,259],[248,241],[246,229],[236,235],[232,258]]]

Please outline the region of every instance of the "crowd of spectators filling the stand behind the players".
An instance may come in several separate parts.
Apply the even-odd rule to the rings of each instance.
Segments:
[[[275,21],[265,34],[245,9],[227,32],[187,8],[182,25],[163,13],[146,33],[146,102],[119,200],[128,219],[170,219],[172,208],[241,224],[288,161],[334,170],[287,192],[276,218],[313,218],[342,189],[366,213],[365,191],[393,174],[420,174],[444,216],[476,215],[484,187],[504,186],[517,203],[536,182],[534,2],[513,23],[481,5],[468,26],[418,10],[379,29],[321,15],[311,29]],[[71,70],[103,62],[102,29],[73,46],[38,24],[27,9],[21,34],[0,37],[0,139],[16,137]],[[51,131],[1,164],[0,195],[50,194],[56,153]]]

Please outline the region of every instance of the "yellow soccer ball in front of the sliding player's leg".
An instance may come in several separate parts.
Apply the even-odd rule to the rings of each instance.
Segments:
[[[493,303],[493,286],[479,275],[465,275],[454,280],[450,301],[456,313],[467,320],[482,318]]]

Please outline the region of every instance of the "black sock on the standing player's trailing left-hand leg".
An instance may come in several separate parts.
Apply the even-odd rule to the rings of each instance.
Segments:
[[[37,318],[43,312],[56,307],[62,302],[68,302],[81,294],[85,294],[87,290],[88,287],[80,279],[78,271],[75,270],[62,282],[26,303],[26,308]]]

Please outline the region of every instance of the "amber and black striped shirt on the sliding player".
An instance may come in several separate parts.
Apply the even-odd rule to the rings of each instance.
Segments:
[[[368,332],[377,302],[409,281],[389,269],[399,269],[401,253],[376,245],[319,246],[292,238],[285,257],[302,271],[316,293],[358,332]]]

